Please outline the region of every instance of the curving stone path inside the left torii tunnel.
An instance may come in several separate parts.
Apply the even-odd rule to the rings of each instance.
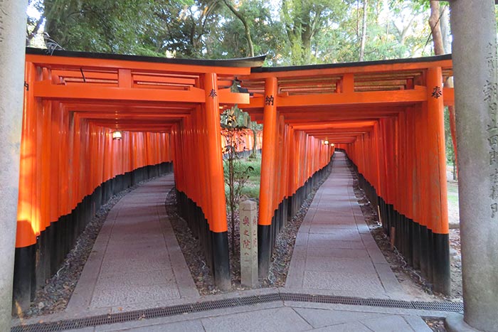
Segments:
[[[121,311],[197,299],[164,198],[173,175],[144,183],[118,202],[102,226],[67,311]]]

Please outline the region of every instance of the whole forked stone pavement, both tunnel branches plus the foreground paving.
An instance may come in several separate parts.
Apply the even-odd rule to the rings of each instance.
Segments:
[[[60,321],[180,303],[278,291],[406,298],[369,233],[343,154],[319,188],[297,235],[284,289],[199,296],[166,219],[164,198],[173,176],[150,181],[124,196],[97,237],[68,309],[44,316]],[[430,332],[420,316],[448,313],[369,306],[275,301],[253,306],[100,325],[104,331],[374,331]],[[38,323],[40,317],[19,323]]]

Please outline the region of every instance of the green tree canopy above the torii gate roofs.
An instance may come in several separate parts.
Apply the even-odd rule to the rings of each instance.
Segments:
[[[176,58],[267,54],[267,65],[407,58],[433,52],[424,2],[29,0],[40,17],[29,17],[26,40],[48,33],[65,50]]]

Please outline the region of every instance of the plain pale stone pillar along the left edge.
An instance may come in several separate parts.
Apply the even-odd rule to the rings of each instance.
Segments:
[[[0,331],[11,328],[27,2],[0,0]]]

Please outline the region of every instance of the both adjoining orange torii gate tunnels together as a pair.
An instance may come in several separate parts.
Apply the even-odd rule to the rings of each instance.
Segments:
[[[173,165],[179,210],[216,284],[228,289],[220,114],[235,104],[263,123],[260,277],[285,220],[343,149],[408,264],[448,293],[450,56],[287,68],[263,68],[263,60],[28,48],[14,305],[25,308],[57,272],[112,194]],[[235,79],[247,92],[231,92]]]

